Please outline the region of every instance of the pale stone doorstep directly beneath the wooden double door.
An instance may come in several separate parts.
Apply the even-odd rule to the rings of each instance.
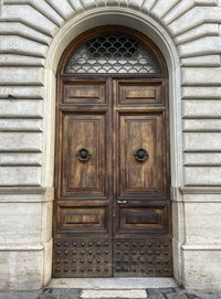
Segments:
[[[148,288],[176,288],[172,278],[53,278],[48,288],[71,289],[148,289]]]

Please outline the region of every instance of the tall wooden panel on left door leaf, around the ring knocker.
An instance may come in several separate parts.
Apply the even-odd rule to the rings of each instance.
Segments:
[[[105,116],[66,114],[63,118],[63,194],[105,194]],[[87,149],[90,159],[77,152]]]

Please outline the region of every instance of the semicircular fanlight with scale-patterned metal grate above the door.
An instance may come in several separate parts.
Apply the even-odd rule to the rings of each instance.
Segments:
[[[101,35],[81,45],[65,73],[159,73],[152,52],[126,35]]]

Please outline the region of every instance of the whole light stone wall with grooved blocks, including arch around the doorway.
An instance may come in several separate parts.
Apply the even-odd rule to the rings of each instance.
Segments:
[[[221,289],[221,1],[1,0],[0,288],[51,279],[55,72],[103,24],[140,30],[170,76],[175,278]]]

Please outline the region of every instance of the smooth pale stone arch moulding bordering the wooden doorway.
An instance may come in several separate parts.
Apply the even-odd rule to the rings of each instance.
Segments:
[[[156,44],[160,47],[162,54],[166,57],[168,68],[169,68],[169,100],[170,100],[170,146],[171,146],[171,181],[172,186],[179,185],[182,181],[182,171],[181,171],[181,135],[179,129],[181,128],[181,118],[180,118],[180,71],[179,71],[179,60],[176,47],[168,35],[168,33],[162,29],[156,21],[150,17],[145,15],[144,13],[126,10],[118,11],[113,9],[99,9],[95,11],[88,11],[80,18],[76,17],[76,20],[73,19],[60,31],[56,38],[53,40],[52,45],[50,46],[48,60],[46,60],[46,70],[45,70],[45,111],[49,114],[51,111],[51,118],[45,118],[45,126],[50,128],[46,131],[45,138],[45,154],[48,152],[48,158],[50,157],[51,163],[48,164],[48,169],[44,170],[45,173],[45,183],[52,184],[53,181],[53,128],[54,128],[54,95],[55,95],[55,72],[59,58],[63,53],[65,46],[73,40],[74,36],[78,35],[85,29],[91,29],[92,24],[94,25],[104,25],[104,24],[119,24],[133,25],[134,29],[138,29],[147,36],[154,40]],[[48,106],[49,105],[49,106]],[[180,129],[181,130],[181,129]],[[49,154],[50,153],[50,154]],[[49,160],[48,160],[49,161]],[[51,164],[51,167],[50,167]],[[173,190],[173,189],[172,189]],[[173,192],[172,192],[173,194]],[[182,210],[179,209],[179,214],[175,212],[176,216],[173,218],[173,227],[178,232],[180,227],[180,217],[179,214],[182,214]],[[177,236],[177,234],[176,234]],[[181,248],[180,244],[180,231],[177,239],[173,239],[173,274],[178,281],[181,281]],[[51,267],[51,259],[49,260],[49,266]]]

